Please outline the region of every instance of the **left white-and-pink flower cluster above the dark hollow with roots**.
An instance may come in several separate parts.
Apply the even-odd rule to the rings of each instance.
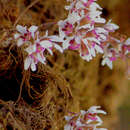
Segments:
[[[14,35],[14,38],[17,40],[17,46],[26,45],[25,52],[28,54],[24,61],[25,70],[31,66],[31,70],[35,71],[38,62],[45,64],[44,52],[46,50],[51,55],[53,55],[53,48],[63,53],[63,49],[58,45],[62,39],[58,36],[48,36],[48,32],[46,32],[45,36],[40,37],[37,26],[31,26],[27,29],[27,27],[17,25],[16,29],[18,33]]]

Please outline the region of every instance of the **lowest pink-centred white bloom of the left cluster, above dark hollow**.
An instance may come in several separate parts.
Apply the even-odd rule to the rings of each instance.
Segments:
[[[34,45],[30,45],[25,49],[28,53],[24,61],[24,69],[27,70],[31,66],[32,71],[36,71],[36,64],[41,62],[45,64],[45,56],[43,55],[44,51],[47,50],[51,55],[52,53],[52,43],[48,40],[43,40],[36,42]]]

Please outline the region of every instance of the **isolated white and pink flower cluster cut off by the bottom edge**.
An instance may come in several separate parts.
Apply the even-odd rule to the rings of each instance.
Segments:
[[[67,124],[64,130],[107,130],[97,128],[101,126],[102,120],[97,114],[106,114],[103,110],[98,110],[100,106],[92,106],[88,111],[81,110],[79,113],[70,113],[65,116]]]

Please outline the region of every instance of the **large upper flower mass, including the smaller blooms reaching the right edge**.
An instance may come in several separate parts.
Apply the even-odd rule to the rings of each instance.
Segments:
[[[111,20],[106,22],[101,18],[102,8],[96,0],[68,1],[71,2],[65,7],[69,11],[68,17],[58,22],[59,35],[65,39],[63,49],[77,50],[87,61],[96,53],[102,53],[102,65],[107,64],[112,69],[112,61],[130,52],[130,40],[124,42],[111,36],[119,27]]]

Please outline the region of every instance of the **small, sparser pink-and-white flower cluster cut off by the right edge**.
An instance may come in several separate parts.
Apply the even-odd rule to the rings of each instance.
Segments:
[[[122,41],[115,37],[109,37],[105,44],[107,46],[104,49],[102,65],[106,64],[110,69],[112,69],[112,62],[118,57],[125,59],[130,54],[130,38]]]

